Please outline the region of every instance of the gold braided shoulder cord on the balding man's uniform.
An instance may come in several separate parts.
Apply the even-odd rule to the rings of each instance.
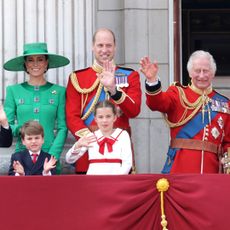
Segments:
[[[74,73],[71,74],[70,78],[71,78],[71,82],[72,82],[74,88],[77,90],[77,92],[79,92],[79,93],[81,93],[81,94],[88,94],[88,93],[91,93],[93,90],[96,89],[96,87],[97,87],[98,84],[99,84],[99,87],[98,87],[98,89],[97,89],[96,95],[95,95],[95,97],[94,97],[94,99],[93,99],[93,102],[92,102],[90,108],[89,108],[88,111],[84,114],[84,116],[81,117],[81,119],[84,121],[84,120],[86,120],[86,119],[89,117],[90,113],[94,110],[94,107],[95,107],[95,105],[97,104],[98,99],[99,99],[99,97],[100,97],[100,94],[101,94],[103,85],[99,82],[99,79],[97,79],[97,80],[93,83],[93,85],[92,85],[90,88],[88,88],[88,89],[86,89],[86,88],[82,89],[82,88],[79,86],[77,77],[75,77],[75,74],[74,74]],[[82,107],[83,107],[83,106],[84,106],[84,103],[83,103]],[[81,111],[82,111],[82,109],[81,109]]]

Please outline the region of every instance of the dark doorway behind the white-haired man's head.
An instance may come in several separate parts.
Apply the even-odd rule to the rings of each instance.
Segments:
[[[230,76],[230,1],[182,0],[182,76],[195,50],[210,52],[217,63],[216,76]]]

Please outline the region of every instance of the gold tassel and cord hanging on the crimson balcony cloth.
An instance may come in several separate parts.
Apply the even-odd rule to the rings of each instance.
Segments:
[[[157,181],[156,187],[158,192],[160,192],[161,196],[161,226],[163,227],[162,230],[168,230],[167,229],[167,220],[166,215],[164,211],[164,192],[166,192],[169,188],[169,181],[166,178],[161,178]]]

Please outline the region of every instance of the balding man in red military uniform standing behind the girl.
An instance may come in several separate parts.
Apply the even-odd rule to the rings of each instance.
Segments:
[[[97,129],[93,110],[98,101],[110,98],[117,105],[118,119],[115,127],[130,133],[129,118],[140,113],[141,87],[138,72],[115,66],[116,42],[113,32],[99,29],[93,36],[92,67],[70,75],[66,91],[67,126],[76,139]],[[85,173],[88,168],[85,154],[76,165],[76,172]]]

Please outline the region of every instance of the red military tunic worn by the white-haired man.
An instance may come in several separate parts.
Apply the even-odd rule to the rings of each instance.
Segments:
[[[162,92],[160,83],[153,87],[146,85],[146,103],[148,107],[153,111],[160,111],[167,114],[170,122],[179,122],[185,112],[185,107],[181,102],[181,92],[179,92],[179,88],[183,90],[190,103],[195,102],[201,96],[193,91],[191,87],[170,86],[166,92]],[[214,103],[219,103],[217,103],[215,108],[210,104],[210,113],[215,112],[215,117],[211,120],[211,123],[201,128],[201,130],[192,137],[190,130],[187,130],[184,138],[208,141],[218,146],[221,145],[224,152],[226,152],[227,147],[230,147],[229,100],[214,90],[207,96],[209,99],[215,98]],[[183,119],[191,115],[195,109],[196,107],[188,110]],[[201,113],[201,109],[196,114],[198,113]],[[209,116],[207,111],[204,112],[204,116]],[[171,139],[176,138],[177,134],[188,122],[179,127],[171,127]],[[198,120],[196,125],[201,125],[200,123],[202,123],[202,119]],[[176,151],[174,159],[168,158],[167,160],[173,161],[171,170],[169,171],[170,173],[218,173],[219,171],[219,157],[212,152],[179,149]],[[168,163],[170,162],[166,162],[166,164]]]

